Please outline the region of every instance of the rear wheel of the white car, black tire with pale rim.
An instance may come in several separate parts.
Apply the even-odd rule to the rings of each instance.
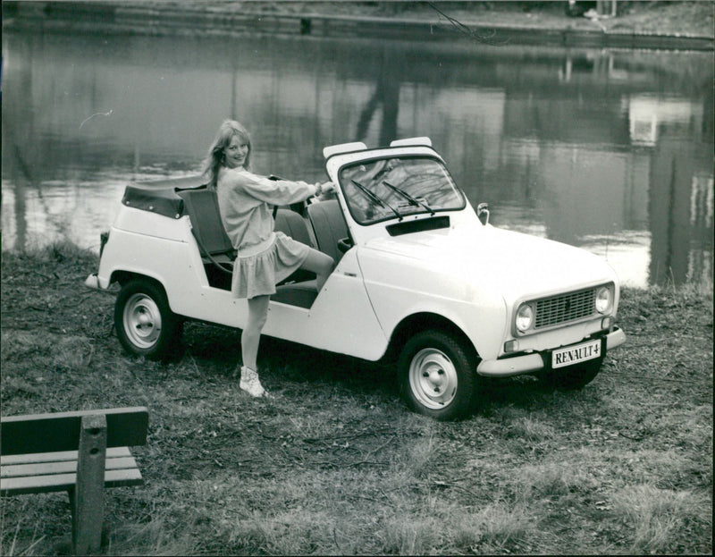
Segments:
[[[171,357],[181,340],[181,325],[159,284],[134,279],[122,286],[114,304],[114,327],[130,354],[150,359]]]

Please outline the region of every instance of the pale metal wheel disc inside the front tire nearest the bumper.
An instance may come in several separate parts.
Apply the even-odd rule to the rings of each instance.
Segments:
[[[457,394],[457,369],[441,350],[425,348],[409,365],[409,386],[417,401],[428,409],[442,409]]]

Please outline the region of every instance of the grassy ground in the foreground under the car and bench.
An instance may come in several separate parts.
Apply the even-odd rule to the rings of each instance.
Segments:
[[[110,490],[106,554],[711,553],[712,295],[627,290],[627,344],[582,392],[494,384],[457,423],[385,369],[266,340],[273,399],[231,377],[235,331],[122,353],[114,297],[70,246],[2,257],[3,414],[147,405],[146,485]],[[0,553],[56,553],[64,494],[4,499]]]

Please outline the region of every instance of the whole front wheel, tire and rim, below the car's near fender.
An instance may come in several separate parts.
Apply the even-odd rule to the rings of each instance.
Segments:
[[[462,418],[478,395],[475,355],[441,331],[413,336],[400,352],[400,392],[410,409],[439,420]]]

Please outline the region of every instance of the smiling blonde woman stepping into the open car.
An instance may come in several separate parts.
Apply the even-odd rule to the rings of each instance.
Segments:
[[[209,187],[216,189],[223,227],[238,257],[231,293],[248,299],[248,323],[241,333],[240,388],[265,396],[257,373],[258,344],[275,285],[302,268],[317,275],[318,291],[332,272],[332,257],[273,230],[271,206],[290,205],[334,190],[332,182],[270,180],[251,173],[251,139],[239,123],[221,124],[206,157]]]

